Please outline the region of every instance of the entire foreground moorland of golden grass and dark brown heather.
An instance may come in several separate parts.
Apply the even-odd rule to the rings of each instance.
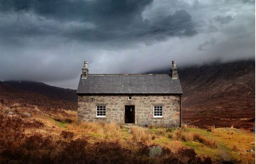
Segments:
[[[74,111],[1,107],[0,163],[254,163],[254,134],[241,129],[78,124]]]

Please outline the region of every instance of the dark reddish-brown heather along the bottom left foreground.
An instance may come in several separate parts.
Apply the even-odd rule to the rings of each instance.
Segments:
[[[31,125],[27,126],[19,117],[1,114],[0,120],[0,163],[181,163],[179,155],[166,147],[161,156],[152,158],[151,146],[142,143],[133,144],[141,152],[137,153],[124,148],[118,140],[91,143],[86,138],[72,139],[74,133],[68,131],[60,134],[68,140],[56,140],[51,135],[25,134],[25,128]],[[183,149],[183,158],[203,162],[191,152],[194,151]]]

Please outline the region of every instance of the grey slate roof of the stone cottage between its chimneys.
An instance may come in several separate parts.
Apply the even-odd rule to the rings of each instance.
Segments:
[[[77,94],[183,94],[169,74],[89,74],[80,77]]]

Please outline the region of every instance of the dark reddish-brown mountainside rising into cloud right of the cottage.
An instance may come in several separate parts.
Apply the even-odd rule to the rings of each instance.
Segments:
[[[178,74],[184,92],[183,122],[199,127],[254,127],[254,60],[179,67]]]

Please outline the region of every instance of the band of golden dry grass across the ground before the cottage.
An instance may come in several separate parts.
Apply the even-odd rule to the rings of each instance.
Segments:
[[[25,111],[21,107],[12,108],[12,110],[14,109],[17,109],[20,113]],[[223,154],[223,152],[225,152],[238,163],[254,163],[254,152],[252,154],[246,152],[248,149],[254,149],[254,135],[251,133],[247,134],[247,132],[236,128],[210,127],[206,131],[187,126],[183,126],[182,128],[178,129],[157,128],[155,126],[150,126],[149,128],[132,127],[129,133],[128,129],[122,129],[114,122],[110,122],[108,124],[104,122],[81,122],[78,124],[76,119],[77,113],[74,111],[57,111],[56,113],[51,113],[51,118],[57,118],[60,121],[65,121],[66,118],[71,119],[72,122],[66,122],[65,127],[57,127],[53,124],[54,121],[52,121],[52,119],[45,117],[45,115],[39,114],[40,112],[35,114],[32,113],[31,118],[24,117],[22,118],[22,121],[17,120],[15,122],[24,122],[22,123],[23,127],[25,128],[24,135],[31,135],[30,139],[33,139],[33,142],[34,140],[36,141],[41,138],[42,142],[44,142],[44,140],[48,141],[47,136],[50,135],[50,140],[52,140],[53,147],[55,147],[54,144],[56,141],[60,140],[62,144],[67,144],[68,146],[69,143],[77,139],[84,139],[89,144],[110,141],[112,143],[118,143],[121,147],[127,148],[131,151],[133,151],[133,149],[139,149],[138,146],[142,146],[144,144],[147,145],[147,147],[150,145],[160,145],[161,147],[166,146],[173,153],[178,153],[177,150],[181,147],[187,147],[194,149],[194,151],[200,156],[210,156],[212,159],[214,159],[214,156],[220,156]],[[26,120],[33,119],[39,119],[41,122],[43,122],[44,126],[37,127],[35,121],[33,121],[32,124],[26,123]],[[49,121],[51,124],[49,123],[48,125],[46,121]],[[30,133],[27,133],[28,130]],[[12,133],[10,130],[6,131],[6,133],[7,132],[11,132],[11,135],[16,134]],[[42,137],[37,135],[32,136],[35,132],[42,134]],[[10,140],[10,137],[8,140]],[[30,141],[26,142],[30,143]],[[80,141],[77,141],[77,144],[79,143]],[[70,144],[70,147],[73,147],[72,144]],[[62,145],[58,145],[58,148],[62,149],[63,147]],[[102,149],[104,148],[105,146],[102,147]],[[49,150],[50,149],[52,148],[49,148]],[[112,148],[109,149],[109,151],[110,150],[112,150]],[[56,152],[58,153],[57,149]],[[79,153],[79,151],[77,153]]]

